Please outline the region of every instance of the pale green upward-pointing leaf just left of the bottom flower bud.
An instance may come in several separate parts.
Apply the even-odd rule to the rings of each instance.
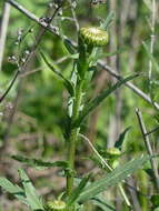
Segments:
[[[22,180],[26,198],[30,208],[32,210],[43,210],[42,202],[26,172],[22,169],[19,169],[19,174]]]

